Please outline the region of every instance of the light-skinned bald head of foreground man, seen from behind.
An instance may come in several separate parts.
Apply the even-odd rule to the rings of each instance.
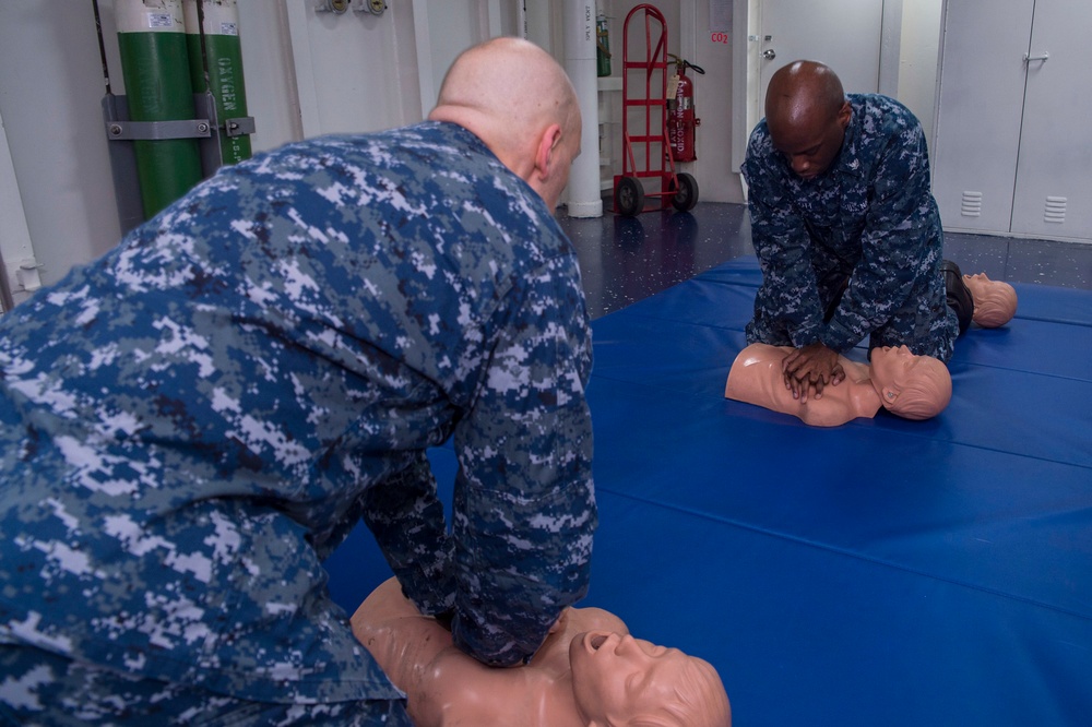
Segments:
[[[550,210],[557,206],[580,154],[581,117],[569,76],[545,50],[494,38],[463,51],[428,118],[473,132]]]

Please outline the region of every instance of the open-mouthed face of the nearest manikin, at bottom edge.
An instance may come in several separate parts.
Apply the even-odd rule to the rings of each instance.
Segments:
[[[590,631],[569,645],[573,693],[584,715],[626,725],[678,701],[675,687],[692,657],[677,648],[608,631]]]

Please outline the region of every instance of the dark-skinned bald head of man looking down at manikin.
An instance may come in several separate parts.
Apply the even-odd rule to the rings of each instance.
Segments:
[[[770,79],[765,93],[770,139],[802,179],[827,171],[842,148],[852,116],[842,82],[822,63],[795,61]]]

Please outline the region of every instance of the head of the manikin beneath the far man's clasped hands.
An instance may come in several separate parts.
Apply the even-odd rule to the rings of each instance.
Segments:
[[[883,408],[904,419],[935,417],[952,397],[948,367],[931,356],[915,356],[906,346],[874,348],[871,381]]]

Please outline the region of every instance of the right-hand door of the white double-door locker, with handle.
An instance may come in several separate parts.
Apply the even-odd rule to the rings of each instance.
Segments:
[[[1092,239],[1092,11],[1037,0],[1011,231]]]

